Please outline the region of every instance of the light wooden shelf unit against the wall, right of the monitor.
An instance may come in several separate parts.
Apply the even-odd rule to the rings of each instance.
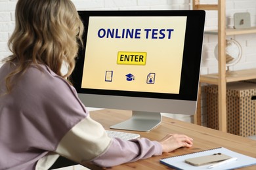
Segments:
[[[214,31],[205,31],[205,34],[218,36],[218,73],[201,75],[200,82],[215,84],[218,86],[218,107],[219,107],[219,129],[226,132],[226,83],[241,80],[250,80],[256,78],[256,69],[247,69],[241,71],[226,71],[226,36],[242,35],[256,33],[256,27],[249,29],[229,29],[226,28],[226,1],[218,0],[217,5],[200,5],[200,0],[193,0],[194,10],[217,10],[218,12],[218,29]],[[198,112],[196,120],[201,117],[201,87],[198,92]],[[201,122],[197,121],[198,124]]]

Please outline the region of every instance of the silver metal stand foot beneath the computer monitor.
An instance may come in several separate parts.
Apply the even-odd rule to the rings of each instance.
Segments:
[[[123,129],[131,131],[150,131],[161,123],[160,112],[141,112],[133,111],[133,115],[129,120],[125,120],[114,126],[111,129]]]

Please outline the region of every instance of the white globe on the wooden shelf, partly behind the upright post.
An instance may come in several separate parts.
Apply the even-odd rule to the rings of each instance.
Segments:
[[[218,44],[214,50],[215,58],[218,59]],[[234,39],[226,40],[226,67],[235,65],[242,57],[242,46]]]

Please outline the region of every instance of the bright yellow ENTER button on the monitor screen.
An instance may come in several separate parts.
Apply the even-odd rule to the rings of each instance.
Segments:
[[[146,52],[118,52],[117,64],[146,65]]]

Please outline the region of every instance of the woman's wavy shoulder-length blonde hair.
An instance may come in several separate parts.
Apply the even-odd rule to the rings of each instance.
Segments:
[[[82,42],[83,24],[70,0],[18,0],[16,26],[8,45],[12,55],[5,59],[17,65],[5,78],[7,92],[11,79],[24,73],[33,63],[45,64],[66,78],[75,67],[75,57]],[[68,73],[62,75],[62,63]]]

